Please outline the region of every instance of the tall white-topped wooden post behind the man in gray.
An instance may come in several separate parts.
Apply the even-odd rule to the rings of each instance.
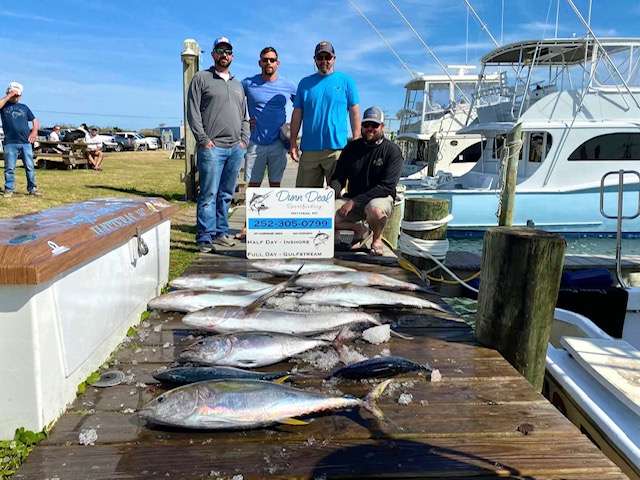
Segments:
[[[185,184],[185,200],[195,201],[197,196],[197,165],[196,165],[196,139],[189,127],[187,118],[187,98],[191,79],[200,70],[200,46],[193,39],[184,41],[184,49],[180,54],[182,59],[182,103],[184,113],[184,175],[182,181]]]

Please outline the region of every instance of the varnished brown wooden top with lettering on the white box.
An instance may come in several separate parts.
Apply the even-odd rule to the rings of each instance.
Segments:
[[[96,199],[0,220],[0,284],[40,284],[122,245],[179,207],[163,199]],[[66,247],[57,254],[52,244]]]

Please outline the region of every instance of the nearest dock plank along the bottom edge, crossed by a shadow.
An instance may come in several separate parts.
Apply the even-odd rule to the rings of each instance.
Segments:
[[[157,440],[40,447],[14,478],[625,478],[583,436],[544,437],[543,442],[535,435],[422,441],[309,437],[302,442],[245,441],[223,448],[213,443],[215,434],[209,438],[194,437],[188,445]]]

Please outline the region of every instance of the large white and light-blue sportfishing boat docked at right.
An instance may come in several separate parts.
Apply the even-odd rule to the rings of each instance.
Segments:
[[[484,81],[488,68],[502,69],[505,81]],[[512,72],[515,83],[507,85]],[[514,226],[615,234],[606,212],[621,201],[632,217],[623,233],[640,233],[640,39],[512,43],[482,58],[479,78],[477,116],[469,114],[457,134],[484,138],[480,159],[463,175],[440,173],[420,185],[401,179],[406,197],[449,199],[454,234],[495,226],[506,136],[520,124]]]

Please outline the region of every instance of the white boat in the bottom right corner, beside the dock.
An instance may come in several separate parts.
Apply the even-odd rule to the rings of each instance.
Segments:
[[[631,288],[622,339],[556,309],[544,395],[625,474],[640,479],[640,288]],[[630,343],[631,342],[631,343]]]

